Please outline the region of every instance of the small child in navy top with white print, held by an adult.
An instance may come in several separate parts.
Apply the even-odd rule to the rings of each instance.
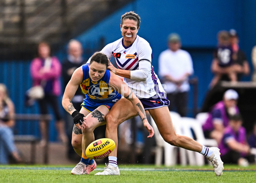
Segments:
[[[237,81],[236,70],[234,66],[234,52],[230,42],[229,32],[223,30],[217,35],[218,46],[213,53],[211,65],[214,77],[210,87],[214,87],[220,80]]]

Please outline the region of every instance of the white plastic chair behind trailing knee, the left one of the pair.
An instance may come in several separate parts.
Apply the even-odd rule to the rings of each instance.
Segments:
[[[173,126],[177,134],[181,134],[180,130],[180,115],[176,112],[170,112],[172,117]],[[156,155],[155,155],[155,165],[161,165],[163,159],[163,150],[164,150],[164,164],[165,166],[172,166],[177,164],[177,147],[170,145],[165,142],[163,137],[158,131],[157,125],[154,122],[154,119],[151,117],[151,125],[154,128],[154,137],[156,139]],[[185,154],[184,154],[185,155]],[[181,156],[182,159],[182,156]]]

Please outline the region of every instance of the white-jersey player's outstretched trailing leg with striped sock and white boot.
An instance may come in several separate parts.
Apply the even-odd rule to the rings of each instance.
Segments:
[[[219,156],[220,153],[218,148],[207,148],[190,137],[177,135],[172,124],[172,118],[168,107],[160,107],[150,109],[148,111],[154,119],[161,136],[166,142],[177,147],[204,154],[204,156],[211,161],[215,174],[217,176],[222,174],[223,162]]]

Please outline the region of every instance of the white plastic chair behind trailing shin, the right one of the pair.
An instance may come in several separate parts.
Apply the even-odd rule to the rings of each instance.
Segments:
[[[218,146],[215,139],[206,139],[204,137],[204,132],[203,132],[201,122],[199,122],[197,119],[189,118],[189,117],[182,117],[181,122],[184,125],[183,128],[185,131],[185,135],[187,135],[188,137],[192,137],[192,131],[191,131],[191,129],[192,129],[194,131],[195,140],[197,142],[199,142],[202,145],[207,146],[207,147],[217,147]],[[190,165],[198,165],[198,166],[204,165],[204,156],[203,155],[201,155],[197,152],[193,152],[193,151],[187,151],[187,153],[189,156],[189,164]],[[190,160],[191,158],[194,159],[195,161]]]

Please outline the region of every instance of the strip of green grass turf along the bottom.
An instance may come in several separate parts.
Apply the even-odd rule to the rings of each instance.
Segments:
[[[72,175],[73,166],[1,165],[0,183],[252,183],[256,182],[256,165],[246,168],[224,165],[223,175],[216,177],[211,166],[119,165],[120,176]]]

